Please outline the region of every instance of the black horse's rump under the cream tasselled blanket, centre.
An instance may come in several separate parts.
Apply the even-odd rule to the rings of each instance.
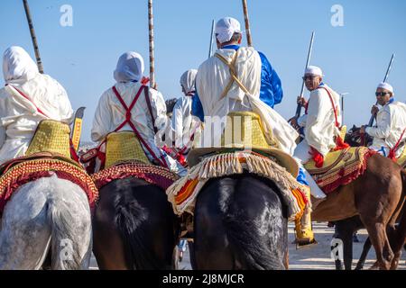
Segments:
[[[197,269],[286,269],[287,207],[272,181],[242,174],[214,178],[198,194]]]

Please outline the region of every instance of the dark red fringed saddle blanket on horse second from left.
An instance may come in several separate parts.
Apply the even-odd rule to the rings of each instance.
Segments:
[[[134,161],[117,163],[91,175],[91,177],[98,189],[116,179],[135,177],[166,190],[179,179],[178,175],[167,168]]]

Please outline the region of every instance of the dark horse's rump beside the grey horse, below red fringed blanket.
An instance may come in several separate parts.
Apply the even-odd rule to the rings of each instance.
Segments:
[[[100,269],[174,269],[180,223],[166,193],[128,176],[99,190],[93,252]]]

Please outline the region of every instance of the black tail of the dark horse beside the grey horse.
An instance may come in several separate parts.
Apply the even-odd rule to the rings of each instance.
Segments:
[[[158,269],[161,264],[153,254],[152,239],[144,227],[148,211],[134,198],[132,190],[117,193],[114,205],[115,226],[123,239],[126,262],[134,269]]]

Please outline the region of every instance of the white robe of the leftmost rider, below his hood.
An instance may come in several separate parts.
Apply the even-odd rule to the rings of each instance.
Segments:
[[[12,85],[0,89],[0,163],[24,156],[40,121],[52,119],[70,123],[73,120],[68,94],[51,76],[38,74],[22,84]],[[35,106],[49,118],[37,112]]]

